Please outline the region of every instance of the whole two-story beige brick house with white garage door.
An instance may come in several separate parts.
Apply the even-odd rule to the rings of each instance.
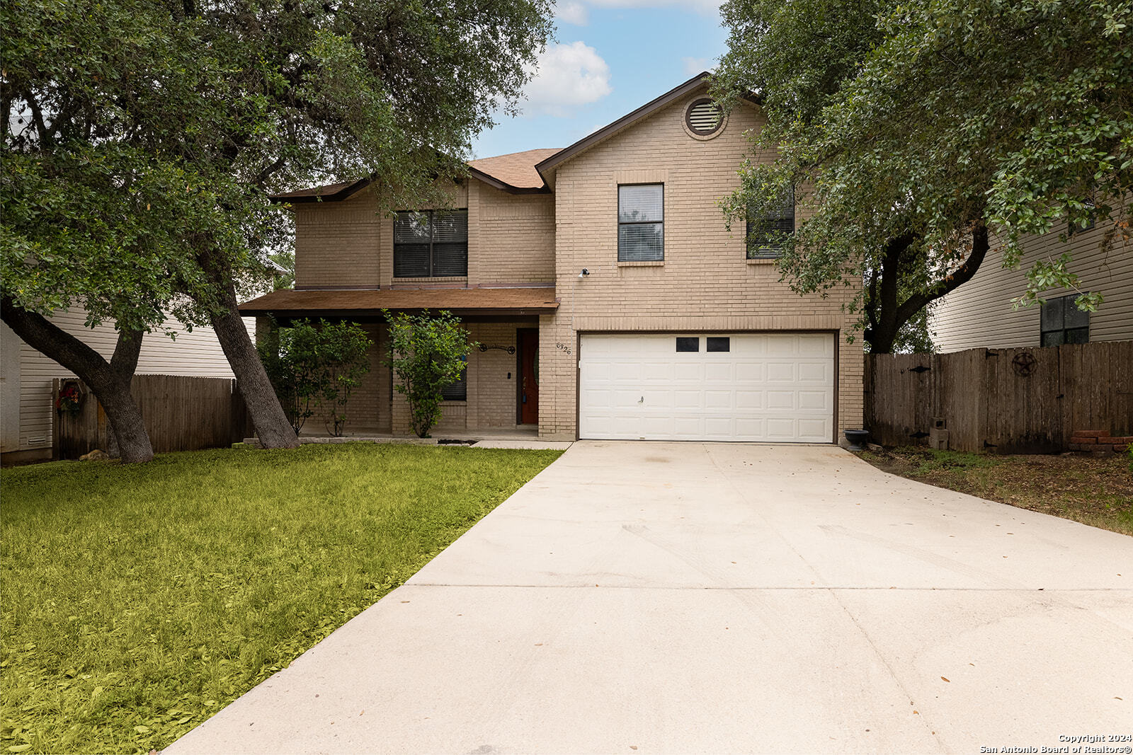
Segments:
[[[434,435],[837,441],[862,421],[862,349],[842,311],[853,292],[799,297],[774,248],[725,229],[717,200],[764,117],[743,102],[719,119],[707,76],[564,149],[470,162],[455,212],[383,215],[370,180],[281,195],[296,289],[241,312],[257,331],[269,315],[367,328],[375,369],[351,432],[410,432],[381,366],[389,308],[450,310],[482,344]],[[793,230],[794,214],[786,203],[775,225]]]

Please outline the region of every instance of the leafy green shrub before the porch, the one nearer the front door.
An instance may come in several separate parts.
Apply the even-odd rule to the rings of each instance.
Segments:
[[[387,363],[398,378],[393,388],[409,401],[414,432],[427,438],[441,419],[442,392],[460,378],[476,343],[448,311],[382,314],[390,323]]]

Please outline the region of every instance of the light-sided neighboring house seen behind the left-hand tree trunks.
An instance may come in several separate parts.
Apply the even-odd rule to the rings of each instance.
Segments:
[[[88,328],[86,315],[80,309],[56,312],[51,321],[105,359],[114,353],[118,332],[112,325]],[[185,327],[173,320],[167,320],[165,326],[178,332],[177,340],[159,333],[146,334],[138,355],[137,375],[232,377],[212,328],[195,327],[193,333],[186,333]],[[0,323],[0,452],[5,463],[51,457],[54,411],[51,380],[63,377],[74,377],[74,374],[32,349]]]

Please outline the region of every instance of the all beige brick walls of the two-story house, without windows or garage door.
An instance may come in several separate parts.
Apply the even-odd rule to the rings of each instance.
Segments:
[[[746,259],[744,230],[730,232],[717,203],[738,186],[744,131],[761,126],[759,111],[739,105],[713,138],[696,137],[684,109],[699,94],[557,164],[553,192],[511,194],[470,178],[453,197],[468,208],[467,277],[394,278],[392,220],[378,215],[370,190],[297,205],[297,288],[555,286],[557,311],[537,326],[466,318],[474,340],[504,349],[472,352],[468,401],[446,403],[438,432],[516,427],[517,355],[505,349],[521,327],[539,329],[543,437],[577,437],[579,337],[597,332],[828,332],[840,344],[835,424],[860,427],[863,359],[860,341],[846,343],[853,318],[842,311],[850,294],[799,297],[774,265]],[[617,187],[645,182],[664,183],[664,260],[619,263]],[[583,267],[590,274],[579,278]],[[391,393],[389,370],[372,375],[351,406],[351,429],[365,422],[408,434],[408,407]]]

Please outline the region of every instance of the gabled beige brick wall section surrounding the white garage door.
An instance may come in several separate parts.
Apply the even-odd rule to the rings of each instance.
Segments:
[[[740,105],[715,138],[696,139],[684,127],[685,105],[696,96],[557,170],[560,306],[540,319],[543,436],[574,437],[578,334],[613,331],[836,332],[836,424],[861,427],[861,345],[846,343],[853,319],[841,309],[849,297],[799,297],[778,281],[774,265],[746,258],[743,228],[724,226],[717,201],[739,185],[736,168],[748,149],[743,132],[761,126],[758,110]],[[654,182],[664,183],[665,259],[619,263],[617,186]],[[590,274],[579,278],[583,267]]]

